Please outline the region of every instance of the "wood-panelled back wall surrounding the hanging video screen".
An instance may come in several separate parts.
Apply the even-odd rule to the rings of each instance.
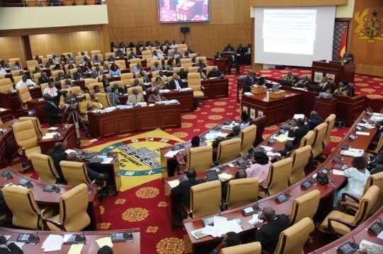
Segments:
[[[179,29],[189,26],[192,49],[212,57],[231,42],[234,47],[251,42],[248,0],[210,0],[209,23],[158,23],[157,0],[109,0],[109,37],[112,42],[183,40]]]

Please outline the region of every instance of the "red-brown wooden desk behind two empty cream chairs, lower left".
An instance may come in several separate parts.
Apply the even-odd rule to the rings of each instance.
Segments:
[[[30,183],[32,183],[32,187],[30,187],[30,190],[33,192],[33,196],[35,197],[35,201],[38,204],[49,204],[49,205],[58,205],[60,202],[60,197],[65,194],[65,192],[72,189],[72,186],[70,185],[59,185],[60,186],[60,192],[45,192],[44,186],[47,183],[41,182],[39,180],[35,180],[33,178],[28,178],[26,175],[22,175],[21,173],[18,173],[16,171],[13,171],[11,168],[6,167],[3,169],[0,169],[0,173],[3,171],[8,170],[12,174],[11,179],[4,179],[0,178],[0,185],[6,185],[7,183],[13,183],[18,184],[20,183],[21,179],[27,179],[30,180]],[[87,212],[89,214],[89,217],[91,219],[91,224],[88,226],[89,229],[96,229],[96,224],[101,222],[101,215],[100,215],[100,209],[99,209],[99,197],[96,194],[96,186],[92,186],[91,193],[88,195],[88,209]]]

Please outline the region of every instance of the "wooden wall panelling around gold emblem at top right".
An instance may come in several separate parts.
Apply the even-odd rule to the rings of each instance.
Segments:
[[[383,1],[382,0],[356,0],[354,13],[357,11],[362,13],[365,8],[369,8],[369,12],[365,17],[368,21],[371,18],[372,11],[379,11],[379,17],[383,14]],[[351,43],[350,52],[355,56],[355,63],[357,64],[357,71],[362,74],[370,74],[373,76],[383,76],[383,40],[369,40],[360,39],[355,33],[358,23],[355,20],[355,14],[351,26]]]

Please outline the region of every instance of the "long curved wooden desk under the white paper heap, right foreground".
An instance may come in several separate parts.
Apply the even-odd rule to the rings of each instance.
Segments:
[[[374,137],[375,132],[377,132],[377,129],[370,129],[368,132],[370,132],[370,136],[358,136],[357,139],[354,141],[350,141],[348,137],[350,134],[355,134],[355,127],[358,122],[362,119],[362,117],[365,117],[366,119],[369,119],[370,117],[365,114],[365,112],[358,117],[357,121],[354,123],[353,127],[350,128],[347,134],[342,139],[342,142],[336,146],[335,151],[331,156],[328,157],[328,159],[322,163],[316,171],[313,171],[309,175],[306,175],[306,178],[300,180],[299,182],[295,183],[294,185],[289,186],[286,190],[279,192],[275,195],[272,195],[270,197],[265,197],[262,200],[259,200],[258,202],[254,202],[248,205],[244,205],[243,207],[238,207],[235,209],[227,210],[224,212],[219,213],[220,216],[227,217],[228,219],[240,219],[241,223],[240,226],[243,227],[243,232],[241,234],[248,234],[253,233],[255,230],[255,227],[248,223],[250,219],[252,219],[251,216],[245,217],[242,214],[242,209],[245,207],[249,207],[255,204],[258,204],[260,208],[264,207],[272,207],[277,214],[290,214],[292,202],[294,201],[294,198],[300,197],[301,195],[306,194],[307,192],[310,192],[311,190],[319,190],[321,192],[321,201],[319,203],[318,210],[316,212],[316,215],[314,217],[314,221],[322,221],[326,215],[331,212],[331,209],[333,207],[333,195],[335,194],[335,190],[338,190],[340,187],[342,187],[345,184],[345,177],[343,175],[333,175],[332,173],[329,175],[329,179],[331,181],[330,185],[319,185],[316,184],[313,187],[311,187],[309,190],[304,190],[301,188],[301,184],[304,183],[306,180],[312,180],[314,173],[317,173],[318,171],[321,171],[323,168],[333,168],[333,165],[335,164],[333,161],[333,158],[335,156],[340,156],[340,148],[343,146],[343,144],[348,144],[349,146],[357,149],[367,149],[367,146],[370,144],[372,137]],[[266,144],[267,141],[262,142],[262,144]],[[352,158],[343,156],[344,161],[342,163],[347,164],[348,166],[351,166]],[[279,204],[276,202],[275,198],[278,195],[281,195],[282,193],[288,193],[289,195],[292,195],[293,198],[288,200],[287,202],[284,202],[282,204]],[[193,236],[191,236],[191,231],[194,231],[195,229],[201,229],[204,227],[202,221],[202,218],[194,218],[194,219],[185,219],[183,221],[184,228],[187,230],[187,233],[189,234],[190,241],[193,246],[193,253],[205,253],[213,248],[213,246],[216,246],[219,242],[221,242],[221,238],[212,238],[211,236],[206,236],[204,238],[200,238],[199,240],[195,239]]]

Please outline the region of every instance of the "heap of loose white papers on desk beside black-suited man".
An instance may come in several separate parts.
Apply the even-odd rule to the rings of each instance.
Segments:
[[[228,232],[240,233],[242,228],[238,224],[238,220],[228,221],[226,217],[214,216],[213,217],[213,225],[214,226],[205,226],[204,229],[199,231],[199,236],[213,236],[213,237],[221,237],[223,234]]]

